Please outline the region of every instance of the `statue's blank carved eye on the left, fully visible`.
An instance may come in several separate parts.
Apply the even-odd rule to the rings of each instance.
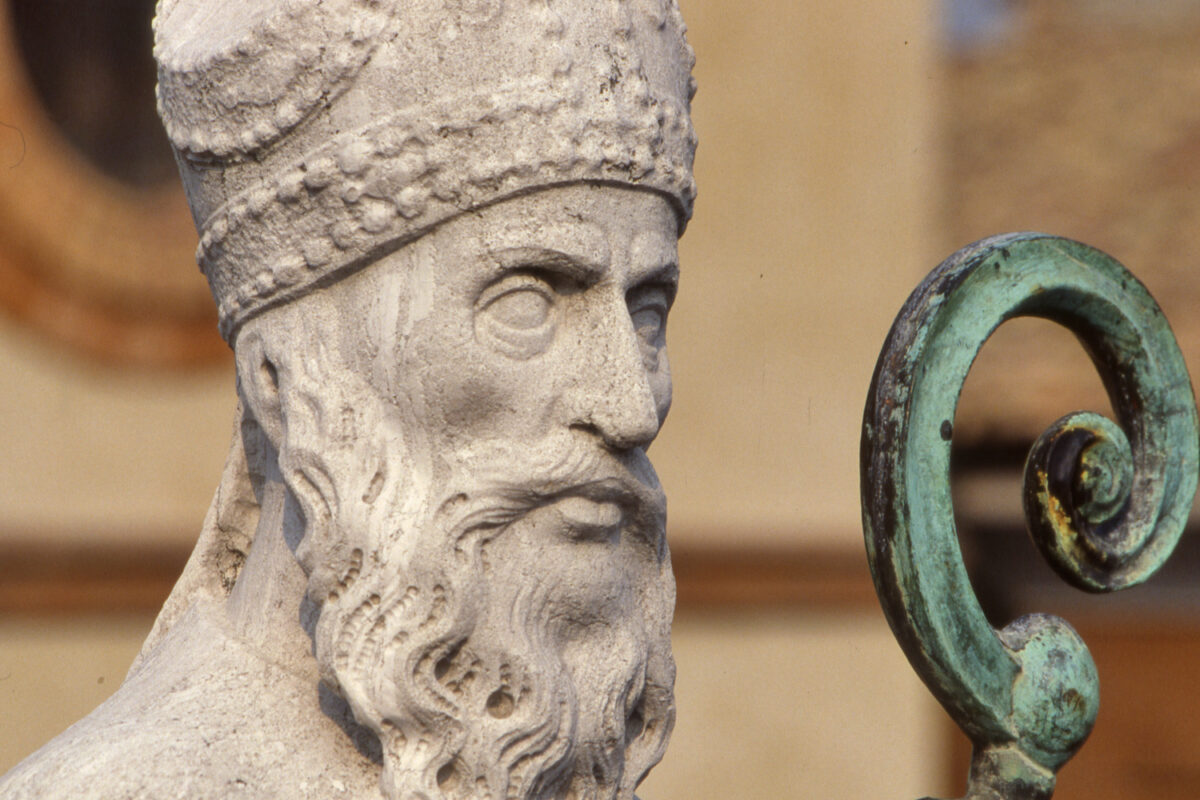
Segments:
[[[554,338],[557,296],[548,282],[514,272],[493,283],[475,303],[475,338],[512,359],[532,359]]]

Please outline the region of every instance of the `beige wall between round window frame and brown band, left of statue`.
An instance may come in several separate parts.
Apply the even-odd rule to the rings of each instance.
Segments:
[[[97,365],[0,318],[0,543],[191,542],[234,399],[232,367]]]

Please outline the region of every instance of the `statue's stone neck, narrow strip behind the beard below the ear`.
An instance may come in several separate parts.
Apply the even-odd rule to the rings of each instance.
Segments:
[[[316,610],[304,602],[307,576],[289,541],[302,522],[289,513],[274,453],[263,482],[254,543],[227,601],[234,633],[263,656],[305,680],[318,679],[310,631]]]

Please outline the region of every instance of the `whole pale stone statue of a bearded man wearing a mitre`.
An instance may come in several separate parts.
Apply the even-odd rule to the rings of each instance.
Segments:
[[[0,795],[632,798],[674,715],[674,0],[161,0],[156,56],[240,423],[125,682]]]

